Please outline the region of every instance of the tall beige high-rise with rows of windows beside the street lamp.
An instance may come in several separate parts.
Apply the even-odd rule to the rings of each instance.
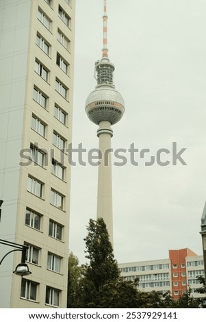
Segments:
[[[74,15],[75,0],[0,1],[0,236],[28,245],[32,272],[3,260],[1,308],[66,307]]]

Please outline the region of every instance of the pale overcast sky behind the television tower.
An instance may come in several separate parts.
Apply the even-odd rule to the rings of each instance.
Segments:
[[[76,0],[73,147],[98,147],[97,126],[85,101],[101,59],[103,0]],[[113,149],[150,149],[138,166],[126,153],[113,166],[114,256],[118,262],[168,258],[188,247],[202,255],[201,215],[206,201],[206,0],[107,0],[108,47],[125,114],[113,125]],[[172,142],[177,152],[172,164]],[[145,166],[164,148],[168,166]],[[96,219],[97,168],[72,167],[70,251],[86,262],[86,226]],[[118,161],[113,158],[113,162]],[[73,160],[75,160],[75,155]],[[120,162],[120,160],[119,160]]]

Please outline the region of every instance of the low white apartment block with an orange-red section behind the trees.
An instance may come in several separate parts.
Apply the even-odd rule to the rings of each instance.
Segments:
[[[193,297],[205,296],[194,292],[200,287],[196,277],[204,276],[203,256],[197,256],[188,248],[169,250],[168,259],[124,263],[118,267],[127,280],[139,277],[139,288],[146,292],[169,290],[172,297],[178,299],[190,286]]]

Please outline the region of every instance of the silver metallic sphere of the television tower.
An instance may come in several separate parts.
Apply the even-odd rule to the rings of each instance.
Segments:
[[[109,121],[113,125],[120,121],[124,112],[124,99],[112,86],[100,84],[86,99],[86,114],[96,125],[101,121]]]

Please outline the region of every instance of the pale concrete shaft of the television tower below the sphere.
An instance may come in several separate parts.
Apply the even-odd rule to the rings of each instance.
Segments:
[[[113,246],[112,215],[112,157],[111,137],[113,132],[108,121],[101,121],[97,130],[100,158],[98,169],[97,218],[103,218]]]

